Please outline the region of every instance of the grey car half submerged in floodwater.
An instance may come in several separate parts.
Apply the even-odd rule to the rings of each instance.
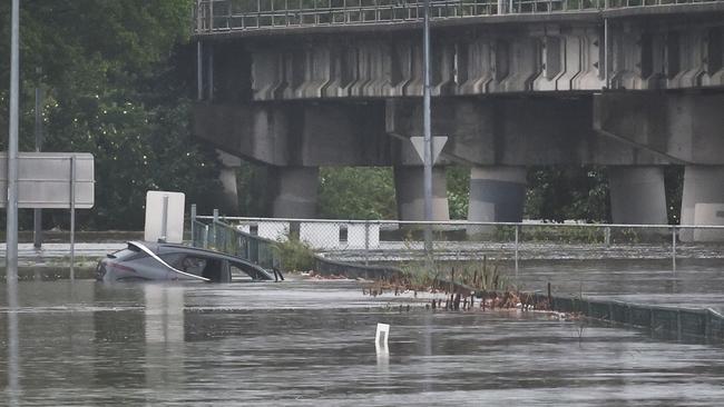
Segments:
[[[100,281],[274,280],[276,274],[238,257],[183,245],[129,241],[96,267]]]

